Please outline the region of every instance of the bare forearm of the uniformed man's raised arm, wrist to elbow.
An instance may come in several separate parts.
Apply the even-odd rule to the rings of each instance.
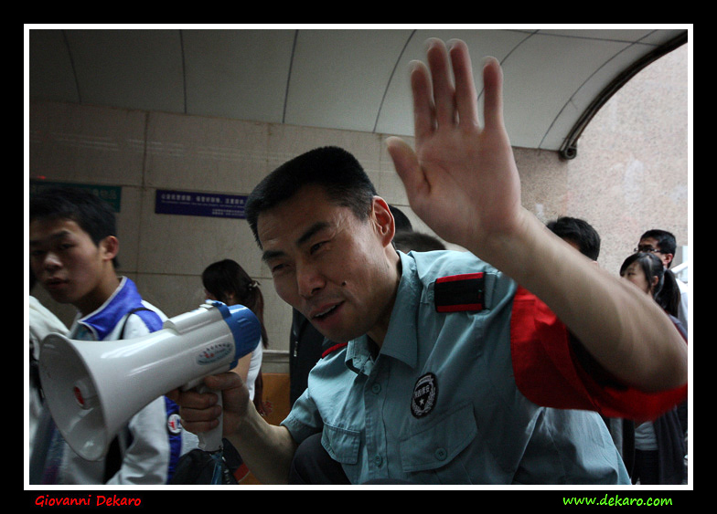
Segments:
[[[687,347],[657,302],[525,214],[520,231],[478,255],[544,301],[622,382],[646,392],[686,383]]]

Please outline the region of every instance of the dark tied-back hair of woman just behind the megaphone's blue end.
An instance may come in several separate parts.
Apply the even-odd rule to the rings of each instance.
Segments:
[[[202,272],[202,284],[211,295],[222,303],[228,303],[230,293],[234,293],[237,303],[243,305],[259,320],[262,326],[263,346],[269,344],[264,329],[264,298],[259,282],[249,276],[236,261],[226,258],[210,264]]]

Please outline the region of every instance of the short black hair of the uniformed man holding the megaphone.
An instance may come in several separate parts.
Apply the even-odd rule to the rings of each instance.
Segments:
[[[359,219],[368,218],[376,188],[356,157],[336,146],[316,148],[276,168],[249,195],[244,212],[260,247],[259,215],[309,184],[324,187],[337,205],[349,207]]]

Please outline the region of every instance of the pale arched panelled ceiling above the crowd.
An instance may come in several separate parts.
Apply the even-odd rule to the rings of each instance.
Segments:
[[[429,37],[505,73],[514,146],[566,158],[605,100],[686,28],[27,30],[30,99],[412,135],[408,64]],[[479,68],[475,67],[475,68]],[[482,88],[480,74],[476,87]]]

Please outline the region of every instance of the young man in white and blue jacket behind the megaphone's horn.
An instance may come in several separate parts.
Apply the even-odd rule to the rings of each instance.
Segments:
[[[31,200],[30,265],[53,299],[78,309],[72,340],[132,339],[166,320],[132,280],[116,275],[115,234],[111,208],[94,194],[58,189]],[[178,423],[177,405],[160,397],[134,415],[107,457],[91,462],[71,450],[44,410],[30,456],[31,483],[166,484],[179,456],[198,443]]]

